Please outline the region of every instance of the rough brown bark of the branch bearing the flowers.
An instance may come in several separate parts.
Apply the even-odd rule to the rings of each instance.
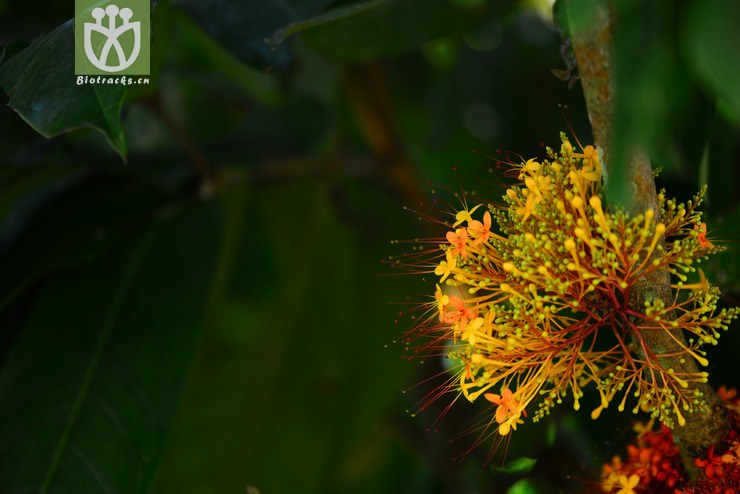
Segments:
[[[585,3],[580,2],[580,5],[583,6]],[[588,25],[571,29],[571,41],[583,84],[595,145],[601,150],[606,176],[609,176],[610,170],[622,166],[613,162],[615,153],[612,146],[615,95],[611,52],[614,16],[601,2],[590,3],[589,8],[593,9],[593,12],[588,15]],[[650,160],[640,150],[634,150],[628,156],[630,156],[627,163],[629,190],[624,197],[629,200],[623,206],[633,214],[652,209],[657,220],[658,195]],[[656,251],[654,255],[660,254]],[[646,301],[656,298],[662,299],[668,306],[672,304],[671,279],[668,271],[656,271],[636,283],[630,293],[629,305],[635,311],[641,312]],[[639,325],[640,321],[636,323]],[[641,332],[641,336],[653,354],[682,353],[679,344],[665,331],[646,330]],[[682,334],[676,336],[683,340]],[[679,357],[661,357],[658,361],[664,368],[672,368],[676,372],[698,371],[693,359],[687,358],[681,363]],[[729,428],[724,406],[714,389],[709,384],[701,384],[697,388],[704,394],[711,410],[710,414],[687,414],[686,425],[683,427],[676,425],[673,429],[674,440],[691,478],[697,473],[694,459],[703,456],[711,445],[719,442]]]

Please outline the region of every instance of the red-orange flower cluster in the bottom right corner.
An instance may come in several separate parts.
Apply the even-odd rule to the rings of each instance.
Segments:
[[[671,430],[665,425],[654,429],[635,427],[636,444],[627,447],[627,459],[615,456],[604,465],[602,489],[618,494],[738,494],[740,493],[740,398],[737,391],[722,386],[718,390],[730,415],[731,430],[719,444],[711,447],[707,456],[697,458],[701,468],[699,478],[687,485],[678,448]]]

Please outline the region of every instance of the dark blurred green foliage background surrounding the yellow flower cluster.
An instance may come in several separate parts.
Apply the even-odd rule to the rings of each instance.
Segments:
[[[737,303],[738,5],[615,8],[616,126],[670,195],[709,183]],[[73,13],[0,0],[1,492],[596,489],[631,415],[563,406],[452,460],[487,411],[412,416],[443,364],[398,341],[433,280],[381,262],[440,233],[403,206],[590,142],[547,3],[162,0],[129,87],[75,85]]]

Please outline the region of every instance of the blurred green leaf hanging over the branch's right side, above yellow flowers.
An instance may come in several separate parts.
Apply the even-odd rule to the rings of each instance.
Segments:
[[[678,159],[671,159],[670,141],[696,96],[683,73],[675,5],[630,1],[619,5],[614,33],[613,155],[606,190],[612,206],[630,203],[627,163],[634,149],[645,151],[654,166],[680,167]]]

